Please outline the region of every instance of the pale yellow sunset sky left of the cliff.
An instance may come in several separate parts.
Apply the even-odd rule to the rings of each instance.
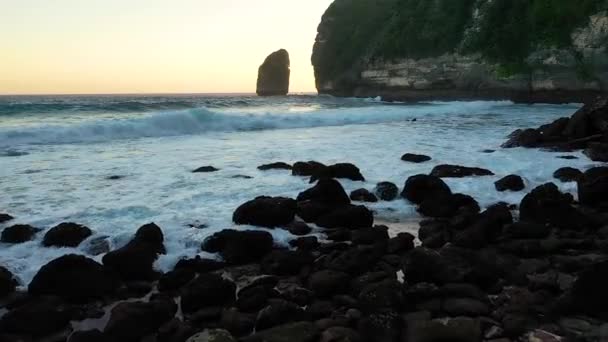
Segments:
[[[332,0],[0,0],[0,94],[254,92],[280,48],[315,91]]]

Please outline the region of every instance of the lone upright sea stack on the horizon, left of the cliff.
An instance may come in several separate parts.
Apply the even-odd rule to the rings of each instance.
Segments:
[[[287,95],[289,92],[289,53],[285,49],[271,53],[258,69],[256,93],[259,96]]]

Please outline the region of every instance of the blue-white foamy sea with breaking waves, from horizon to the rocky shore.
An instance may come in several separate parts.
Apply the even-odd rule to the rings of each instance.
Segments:
[[[163,228],[167,247],[157,267],[167,271],[181,257],[203,255],[200,243],[213,232],[233,227],[232,212],[243,202],[260,195],[295,197],[310,186],[290,172],[257,169],[275,161],[352,162],[367,181],[342,181],[347,191],[371,190],[380,181],[402,187],[409,176],[428,173],[440,163],[484,167],[496,176],[447,183],[483,206],[519,203],[523,192],[499,194],[493,183],[516,173],[533,187],[550,181],[559,167],[585,168],[591,162],[566,161],[539,150],[503,150],[500,144],[517,128],[569,116],[579,107],[401,104],[313,95],[4,96],[0,212],[16,217],[11,225],[27,223],[44,230],[60,222],[81,223],[96,232],[90,239],[107,236],[113,248],[153,221]],[[487,149],[496,152],[482,152]],[[406,152],[433,160],[405,163],[400,157]],[[206,165],[220,171],[191,173]],[[108,179],[111,176],[121,178]],[[560,186],[575,190],[572,183]],[[369,206],[377,220],[394,229],[418,219],[404,200]],[[84,253],[86,242],[77,249],[44,248],[43,235],[0,246],[0,264],[22,284],[59,255]],[[282,230],[273,235],[281,243],[291,238]]]

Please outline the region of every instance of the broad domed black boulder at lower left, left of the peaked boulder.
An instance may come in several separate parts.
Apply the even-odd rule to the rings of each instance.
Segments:
[[[54,295],[73,302],[87,302],[109,295],[117,279],[101,264],[81,255],[64,255],[42,266],[28,286],[33,295]]]

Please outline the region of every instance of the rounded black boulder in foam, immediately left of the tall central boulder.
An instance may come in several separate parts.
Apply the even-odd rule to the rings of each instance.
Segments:
[[[274,228],[291,223],[296,207],[291,198],[260,196],[238,207],[232,220],[236,224]]]

